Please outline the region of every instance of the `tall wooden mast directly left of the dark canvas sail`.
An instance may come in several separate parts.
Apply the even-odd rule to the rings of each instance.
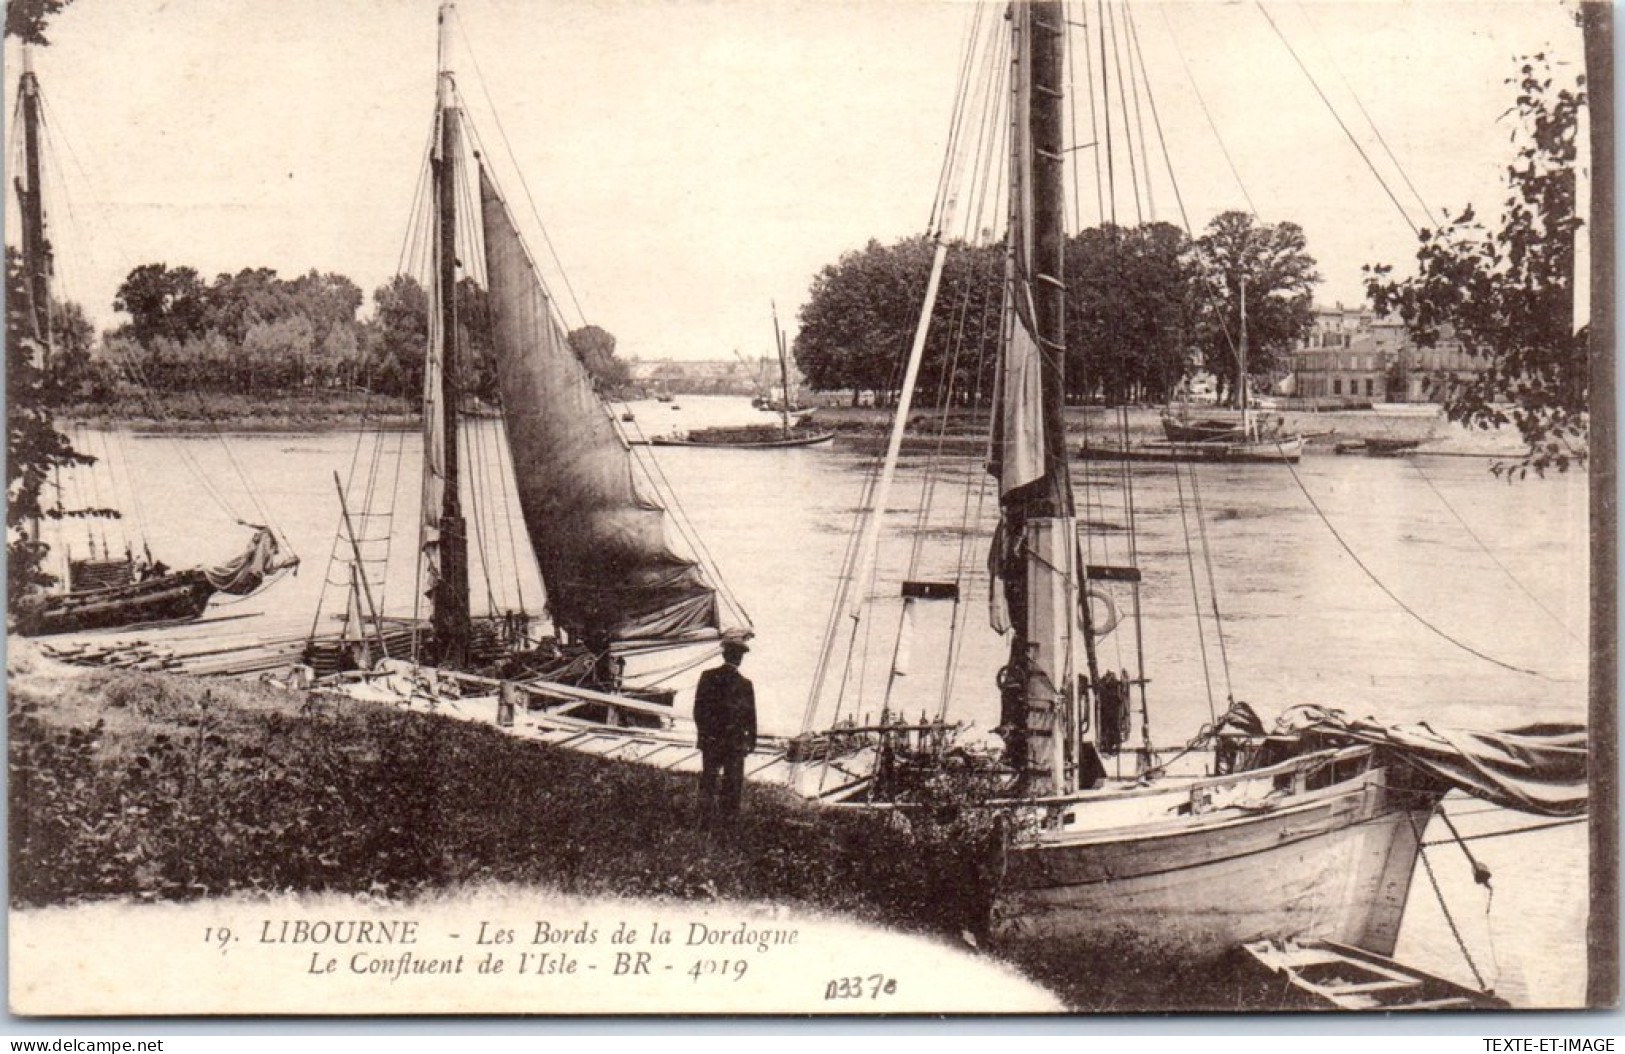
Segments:
[[[434,581],[434,650],[444,666],[468,664],[468,529],[458,495],[458,323],[457,323],[457,167],[460,156],[462,110],[450,67],[450,32],[455,5],[440,5],[439,114],[440,136],[434,158],[436,263],[440,299],[440,378],[439,411],[442,492],[439,508],[439,577]],[[431,352],[436,351],[431,348]],[[434,372],[434,370],[431,370]]]

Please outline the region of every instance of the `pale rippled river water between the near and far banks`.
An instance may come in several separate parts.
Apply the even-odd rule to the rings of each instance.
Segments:
[[[736,422],[756,413],[739,400],[696,396],[676,404],[635,403],[627,411],[635,414],[634,427],[648,434]],[[465,443],[484,466],[474,474],[492,492],[499,487],[489,481],[504,464],[497,429],[491,421],[474,422]],[[99,494],[102,503],[130,510],[127,526],[138,521],[153,552],[167,564],[219,560],[240,549],[247,533],[231,523],[232,516],[270,518],[304,560],[297,577],[247,601],[216,603],[202,624],[140,637],[190,654],[252,640],[301,638],[312,625],[336,629],[332,619],[343,596],[332,585],[325,588],[343,581],[341,568],[328,568],[340,523],[333,476],[349,476],[358,451],[361,464],[367,464],[369,447],[351,432],[224,438],[125,432],[78,437],[81,447],[104,458],[107,471],[101,476],[120,481]],[[754,624],[744,669],[757,685],[764,731],[800,731],[871,460],[840,445],[762,451],[642,448],[639,456],[653,455],[694,534]],[[367,516],[356,528],[362,536],[367,525],[372,533],[393,528],[392,570],[380,585],[382,603],[398,612],[410,612],[414,596],[419,458],[416,435],[387,440],[375,474],[393,484],[396,516]],[[881,551],[874,586],[881,604],[864,625],[889,630],[895,624],[899,607],[890,598],[916,538],[931,544],[921,546],[910,578],[944,577],[962,551],[972,565],[985,562],[985,534],[993,523],[985,473],[970,458],[951,460],[944,468],[934,505],[951,512],[921,523],[913,507],[926,486],[926,458],[905,458],[886,518],[899,541]],[[240,477],[252,481],[257,503]],[[1584,473],[1508,484],[1493,477],[1480,458],[1306,456],[1290,469],[1198,466],[1194,476],[1186,468],[1141,464],[1126,477],[1120,464],[1076,463],[1074,481],[1089,521],[1092,564],[1129,560],[1126,526],[1133,505],[1157,745],[1185,742],[1209,719],[1211,706],[1224,708],[1228,693],[1253,703],[1266,723],[1297,703],[1389,723],[1456,728],[1584,721]],[[359,518],[359,499],[351,502]],[[510,536],[522,538],[517,523],[509,513],[471,528],[476,549],[483,536],[489,554],[474,554],[476,609],[492,599],[497,607],[512,607],[520,598],[531,611],[540,607],[535,568],[526,557],[514,555],[522,546],[505,551]],[[106,531],[115,539],[122,526],[109,525]],[[1202,536],[1209,560],[1201,559],[1199,546],[1198,555],[1188,557],[1186,539]],[[81,551],[83,539],[73,546]],[[962,672],[951,689],[952,710],[972,724],[972,734],[985,734],[996,721],[991,682],[1001,648],[986,630],[985,583],[967,585],[964,594],[965,633],[957,646]],[[1214,604],[1224,616],[1222,648],[1206,617]],[[942,697],[938,669],[939,656],[949,653],[946,630],[952,616],[946,604],[938,607],[918,614],[907,661],[900,663],[907,676],[892,689],[894,706],[910,715],[934,710]],[[1118,594],[1116,609],[1128,614],[1128,594]],[[1133,653],[1129,622],[1102,641],[1108,666],[1133,669]],[[861,687],[861,697],[850,703],[850,713],[879,710],[892,666],[884,635],[860,648],[848,682]],[[692,684],[692,677],[689,671],[678,682]],[[1462,823],[1479,828],[1529,820],[1485,819],[1471,802],[1458,809]],[[1438,828],[1435,823],[1428,836],[1443,836]],[[1433,848],[1428,859],[1454,927],[1485,981],[1523,1005],[1581,1002],[1584,827],[1472,846],[1495,870],[1493,896],[1466,877],[1469,867],[1456,846]],[[1420,867],[1401,957],[1472,979]]]

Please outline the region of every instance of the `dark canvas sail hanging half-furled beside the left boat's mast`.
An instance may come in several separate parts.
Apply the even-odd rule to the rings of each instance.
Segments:
[[[554,624],[588,643],[713,633],[715,590],[666,544],[666,512],[639,492],[627,445],[484,169],[479,201],[497,382]]]

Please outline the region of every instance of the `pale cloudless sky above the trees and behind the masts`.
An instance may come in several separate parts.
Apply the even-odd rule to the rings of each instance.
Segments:
[[[406,244],[436,10],[75,0],[34,54],[58,296],[117,325],[114,291],[151,261],[338,271],[370,294]],[[1133,18],[1139,123],[1154,106],[1167,145],[1167,162],[1147,148],[1138,206],[1118,177],[1118,221],[1183,224],[1172,167],[1198,231],[1248,203],[1303,226],[1323,304],[1357,302],[1360,266],[1409,263],[1415,235],[1280,36],[1417,222],[1386,153],[1435,214],[1493,210],[1514,57],[1581,63],[1571,5],[1547,0],[1069,6],[1103,15],[1120,39]],[[462,0],[452,65],[499,175],[518,174],[504,188],[535,255],[562,261],[572,325],[609,330],[622,357],[754,357],[774,305],[793,336],[822,266],[925,232],[973,16],[968,0]],[[10,122],[15,41],[5,62]],[[1092,184],[1079,200],[1094,222]],[[11,242],[10,200],[6,221]]]

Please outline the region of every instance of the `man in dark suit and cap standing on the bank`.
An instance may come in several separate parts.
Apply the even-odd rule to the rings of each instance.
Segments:
[[[700,674],[694,692],[694,724],[699,726],[700,828],[731,827],[739,815],[744,789],[744,757],[756,749],[756,687],[739,672],[751,648],[746,635],[722,637],[723,664]]]

